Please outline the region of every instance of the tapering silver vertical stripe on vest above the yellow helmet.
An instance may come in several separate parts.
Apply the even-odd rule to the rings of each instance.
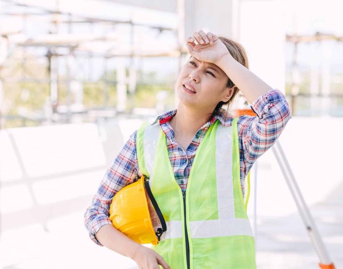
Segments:
[[[144,158],[146,161],[146,167],[147,172],[149,173],[150,180],[149,185],[152,186],[152,180],[153,180],[153,163],[154,163],[154,157],[156,153],[156,147],[158,138],[161,134],[161,127],[158,123],[154,125],[147,125],[145,131],[144,131],[144,137],[143,137],[143,144],[144,144]]]

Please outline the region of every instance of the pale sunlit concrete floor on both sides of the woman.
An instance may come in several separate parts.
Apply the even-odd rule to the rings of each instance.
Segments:
[[[333,122],[334,120],[338,122]],[[331,146],[319,143],[316,144],[316,150],[313,150],[313,145],[321,139],[320,137],[325,137],[324,128],[316,127],[323,126],[324,122],[330,125],[332,130],[330,141],[340,141],[342,130],[339,128],[343,126],[343,120],[316,121],[296,118],[290,121],[280,141],[292,169],[294,168],[301,192],[310,207],[330,257],[336,269],[340,269],[343,268],[343,174],[340,155],[343,152],[343,144],[335,143]],[[136,123],[135,126],[139,124]],[[309,131],[311,136],[300,133],[294,140],[295,129],[299,126],[303,126],[307,131],[311,128],[315,131]],[[19,130],[20,132],[12,136],[16,139],[19,150],[11,152],[9,149],[6,154],[3,152],[6,152],[8,141],[14,140],[10,136],[8,141],[0,139],[3,143],[0,152],[0,268],[137,269],[132,260],[94,244],[83,224],[85,209],[105,173],[108,161],[119,146],[116,145],[110,148],[109,152],[104,152],[101,144],[104,140],[98,138],[98,131],[94,129],[96,127],[89,124],[86,125],[86,129],[84,126],[72,127],[69,131],[66,127],[53,127],[62,128],[61,134],[64,134],[66,139],[63,143],[57,144],[49,144],[44,138],[48,135],[47,127],[43,128],[44,134],[41,136],[33,129]],[[132,125],[130,128],[132,129]],[[122,132],[125,134],[124,140],[132,131],[129,128],[125,130]],[[41,147],[45,154],[44,150],[49,148],[60,155],[54,156],[55,159],[52,161],[46,160],[46,155],[42,155],[40,151],[35,151],[37,156],[34,156],[32,148],[29,148],[32,141],[27,140],[31,131],[34,137],[32,141],[37,140],[35,147],[43,143]],[[49,131],[49,137],[57,134],[55,131]],[[82,141],[76,138],[70,140],[68,132],[76,138],[79,134],[88,136],[83,137]],[[115,133],[106,134],[108,139],[117,137]],[[51,138],[51,141],[54,140]],[[90,147],[91,150],[84,149],[86,142],[89,144],[88,149]],[[64,153],[61,150],[62,146],[66,147]],[[109,146],[106,145],[104,149],[109,149]],[[77,156],[71,156],[69,153],[77,152],[83,159],[78,159],[76,163]],[[16,157],[20,159],[18,164],[13,162]],[[88,166],[85,164],[87,161]],[[66,171],[62,171],[63,165],[69,170],[66,168]],[[74,170],[71,171],[71,168]],[[258,268],[319,268],[319,258],[272,152],[269,151],[262,156],[256,165],[254,164],[253,169],[258,171]],[[251,182],[248,215],[253,224],[253,173]]]

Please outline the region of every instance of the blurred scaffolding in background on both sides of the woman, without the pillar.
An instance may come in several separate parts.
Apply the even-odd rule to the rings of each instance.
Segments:
[[[28,2],[28,1],[26,1]],[[111,1],[103,1],[103,4],[111,4]],[[143,65],[144,59],[169,57],[176,59],[174,66],[175,74],[180,70],[183,57],[187,54],[185,47],[181,44],[184,28],[182,24],[182,10],[178,11],[179,23],[175,27],[151,25],[140,23],[131,16],[128,20],[111,19],[101,16],[87,16],[73,14],[59,8],[59,1],[56,1],[54,8],[43,7],[31,3],[23,3],[12,0],[0,1],[0,18],[19,18],[22,27],[16,30],[0,29],[0,101],[3,99],[4,85],[7,83],[33,83],[38,87],[48,85],[49,100],[44,105],[43,113],[35,114],[25,110],[19,113],[8,113],[1,106],[0,128],[4,125],[4,119],[21,119],[22,126],[25,122],[35,121],[39,124],[71,123],[82,121],[94,121],[97,117],[113,117],[125,114],[129,117],[134,112],[142,113],[131,106],[137,84],[151,84],[152,82],[142,81],[138,77],[137,69]],[[113,16],[115,17],[115,16]],[[31,37],[28,34],[28,25],[32,20],[47,22],[47,30],[41,35]],[[81,25],[81,30],[78,29]],[[126,27],[123,31],[123,26]],[[84,32],[84,29],[87,31]],[[141,37],[142,29],[155,33],[154,41],[158,36],[169,32],[172,33],[170,44],[143,45],[137,40]],[[291,67],[291,107],[293,114],[296,114],[296,100],[299,97],[310,98],[310,110],[321,110],[324,115],[329,115],[331,99],[343,97],[341,94],[332,93],[330,90],[330,60],[328,57],[330,48],[327,41],[342,42],[342,36],[319,33],[314,35],[286,35],[286,42],[294,45],[294,54]],[[299,44],[309,44],[322,47],[322,65],[319,75],[318,61],[311,61],[311,82],[310,93],[299,92],[300,72],[298,65]],[[39,55],[30,51],[39,50]],[[35,77],[28,67],[30,60],[44,59],[46,76]],[[95,64],[98,60],[102,64]],[[9,61],[17,61],[19,64],[12,73],[5,74],[4,70]],[[87,62],[87,64],[82,64]],[[113,65],[115,63],[115,65]],[[86,108],[84,105],[83,83],[93,81],[95,68],[101,66],[103,76],[97,81],[101,82],[102,104],[97,107]],[[64,72],[61,71],[64,69]],[[14,75],[21,71],[21,75]],[[109,77],[109,72],[116,72],[115,78]],[[64,76],[61,75],[64,73]],[[80,74],[84,78],[80,78]],[[87,73],[87,74],[86,74]],[[172,78],[175,79],[175,78]],[[320,81],[321,79],[321,81]],[[320,82],[320,85],[319,85]],[[172,88],[173,80],[170,82]],[[165,84],[164,81],[156,81],[154,84]],[[116,104],[110,101],[113,94],[111,87],[116,88]],[[59,89],[65,88],[65,104],[61,102]],[[25,92],[22,93],[25,97]],[[242,97],[242,96],[241,96]],[[154,111],[146,113],[156,114],[165,110],[166,90],[161,89],[156,94],[158,101]],[[175,99],[176,101],[176,99]]]

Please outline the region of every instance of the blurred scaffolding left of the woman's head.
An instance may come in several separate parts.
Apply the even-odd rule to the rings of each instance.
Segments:
[[[15,11],[13,11],[15,10]],[[34,5],[23,4],[21,2],[3,0],[1,7],[1,16],[19,17],[22,21],[22,29],[14,32],[0,32],[2,37],[1,45],[3,49],[0,52],[0,67],[4,67],[9,54],[15,55],[17,51],[21,51],[20,67],[23,75],[19,78],[13,78],[13,75],[1,74],[0,92],[3,84],[10,83],[46,83],[49,84],[49,103],[45,106],[45,115],[43,117],[31,116],[29,113],[19,116],[25,120],[35,120],[41,123],[71,123],[72,119],[77,119],[77,115],[87,114],[88,118],[94,120],[97,116],[114,116],[118,113],[134,112],[134,108],[128,107],[127,103],[132,103],[133,96],[136,90],[137,81],[137,62],[143,61],[145,58],[171,57],[181,58],[185,51],[182,51],[181,46],[177,42],[177,28],[165,27],[161,25],[150,25],[135,22],[134,18],[130,20],[117,20],[108,18],[98,18],[89,16],[74,15],[72,13],[63,12],[58,7],[54,9]],[[131,16],[132,17],[132,16]],[[42,21],[49,21],[49,32],[42,35],[30,37],[27,35],[26,25],[32,18],[42,18]],[[73,25],[87,25],[88,32],[82,33],[75,31]],[[121,33],[120,27],[125,26],[128,31]],[[83,27],[84,28],[84,27]],[[148,31],[156,33],[156,36],[171,32],[174,37],[171,45],[142,45],[137,43],[139,30],[147,28]],[[100,29],[96,31],[95,29]],[[157,38],[155,36],[155,38]],[[128,40],[128,44],[123,42]],[[174,45],[173,45],[174,44]],[[100,48],[97,48],[100,47]],[[32,58],[32,54],[28,52],[30,48],[41,49],[45,51],[44,57],[48,62],[46,78],[35,78],[30,70],[27,69],[27,61]],[[12,51],[10,51],[12,50]],[[11,56],[13,58],[13,56]],[[86,109],[83,101],[83,87],[78,74],[82,72],[82,66],[77,66],[77,59],[87,59],[89,65],[88,81],[92,81],[92,68],[95,67],[95,59],[102,59],[102,69],[104,77],[102,83],[102,106]],[[64,59],[65,78],[60,78],[61,59]],[[125,67],[125,61],[128,61],[128,67]],[[179,60],[180,61],[180,60]],[[108,78],[109,62],[115,62],[115,71],[117,76],[115,79]],[[113,63],[111,63],[113,64]],[[75,67],[76,65],[76,67]],[[77,71],[75,70],[77,68]],[[126,68],[128,74],[126,74]],[[175,66],[175,73],[179,66]],[[139,83],[145,83],[140,81]],[[161,82],[149,82],[158,84]],[[64,85],[66,87],[66,104],[60,104],[60,96],[58,88]],[[109,87],[116,87],[117,104],[109,104]],[[127,89],[128,88],[128,96]],[[165,99],[165,94],[158,94],[159,101]],[[73,95],[73,98],[72,98]],[[73,100],[72,100],[73,99]],[[161,102],[158,102],[157,109],[164,110]],[[140,111],[142,112],[142,110]],[[15,118],[15,115],[0,114],[0,125],[3,126],[3,117],[7,119]]]

